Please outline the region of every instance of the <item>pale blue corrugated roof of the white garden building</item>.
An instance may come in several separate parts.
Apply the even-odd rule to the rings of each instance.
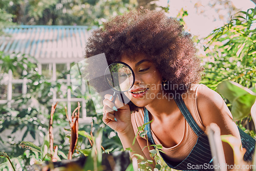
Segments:
[[[15,26],[0,36],[0,51],[34,56],[41,63],[76,62],[84,57],[84,47],[96,27]]]

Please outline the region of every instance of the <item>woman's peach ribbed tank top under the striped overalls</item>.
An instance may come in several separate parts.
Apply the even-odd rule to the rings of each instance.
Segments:
[[[196,123],[200,127],[202,131],[205,131],[205,127],[203,126],[202,119],[200,117],[200,114],[198,112],[197,107],[197,89],[199,86],[203,86],[203,84],[194,84],[191,89],[186,93],[182,95],[182,99],[190,112],[190,114],[195,119]],[[144,112],[143,110],[140,110],[139,112],[132,114],[132,120],[136,124],[136,127],[142,126],[143,120],[144,120]],[[186,119],[183,117],[183,120],[185,122],[184,126],[184,134],[181,141],[172,147],[165,147],[163,146],[162,151],[165,153],[164,156],[167,160],[173,161],[173,162],[180,162],[184,160],[195,144],[197,143],[198,136],[195,134],[195,132],[191,129],[189,124],[187,123]],[[137,130],[137,129],[136,129]],[[137,130],[138,131],[138,130]],[[154,134],[154,130],[151,130],[154,141],[156,144],[161,144],[156,135]]]

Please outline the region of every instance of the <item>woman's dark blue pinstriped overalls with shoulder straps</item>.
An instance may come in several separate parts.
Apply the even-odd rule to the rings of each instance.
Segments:
[[[203,169],[197,169],[197,170],[214,170],[214,169],[211,169],[211,168],[214,168],[214,166],[212,163],[212,156],[211,156],[211,152],[210,152],[208,137],[200,129],[200,127],[197,125],[194,118],[189,113],[184,101],[182,100],[181,95],[176,96],[175,101],[176,101],[182,115],[186,119],[187,123],[189,124],[189,126],[193,129],[193,131],[198,136],[197,143],[194,146],[194,148],[192,149],[192,151],[190,152],[190,154],[182,162],[180,162],[178,164],[172,163],[169,161],[167,162],[164,159],[161,152],[160,152],[160,155],[162,156],[163,160],[169,167],[177,169],[177,170],[193,170],[193,169],[189,169],[189,168],[193,168],[192,166],[196,166],[196,165],[197,166],[201,165],[202,167],[200,167],[200,168],[203,168]],[[150,119],[148,117],[148,111],[146,108],[144,108],[144,123],[147,123],[149,121],[150,121]],[[147,130],[148,140],[152,144],[155,144],[155,141],[154,141],[152,133],[151,133],[150,124],[145,125],[145,130]],[[251,161],[252,155],[254,154],[253,152],[254,152],[254,148],[255,148],[255,140],[252,137],[250,137],[248,134],[243,132],[241,129],[239,129],[239,133],[241,136],[242,146],[244,148],[246,148],[244,160]],[[212,165],[212,166],[209,166],[209,165]]]

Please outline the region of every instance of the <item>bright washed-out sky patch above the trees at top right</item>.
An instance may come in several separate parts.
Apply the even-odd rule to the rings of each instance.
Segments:
[[[207,36],[212,30],[227,24],[231,15],[238,11],[247,11],[249,8],[255,8],[255,4],[250,0],[160,0],[158,6],[167,7],[167,15],[176,17],[181,9],[187,11],[184,22],[187,31],[199,38]]]

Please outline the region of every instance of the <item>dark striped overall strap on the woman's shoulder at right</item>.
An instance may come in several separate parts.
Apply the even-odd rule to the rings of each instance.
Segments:
[[[200,129],[200,127],[196,123],[195,119],[193,118],[193,116],[188,111],[181,95],[176,94],[174,100],[175,100],[176,104],[178,105],[182,115],[186,119],[187,123],[190,125],[192,130],[197,134],[197,136],[200,136],[200,135],[204,134],[203,130]]]

